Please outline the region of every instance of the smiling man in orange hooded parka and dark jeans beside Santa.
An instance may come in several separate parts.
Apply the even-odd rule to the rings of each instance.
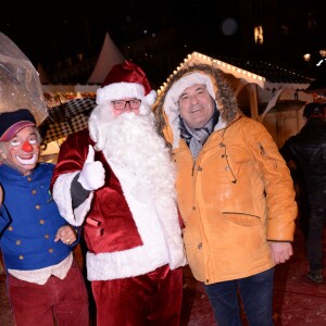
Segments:
[[[297,217],[276,143],[210,64],[179,70],[153,110],[177,167],[187,260],[218,326],[242,325],[239,297],[251,326],[272,326],[274,266],[292,255]]]

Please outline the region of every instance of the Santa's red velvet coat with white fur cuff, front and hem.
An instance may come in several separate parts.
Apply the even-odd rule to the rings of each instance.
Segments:
[[[165,264],[172,269],[184,266],[174,198],[165,198],[162,208],[151,198],[150,190],[146,193],[142,188],[138,195],[135,189],[141,187],[141,180],[128,175],[103,152],[96,152],[95,159],[104,166],[105,185],[91,192],[76,210],[72,208],[71,184],[84,166],[88,145],[93,145],[88,130],[68,136],[60,149],[52,178],[53,198],[61,214],[73,225],[84,226],[89,250],[88,279],[137,276]]]

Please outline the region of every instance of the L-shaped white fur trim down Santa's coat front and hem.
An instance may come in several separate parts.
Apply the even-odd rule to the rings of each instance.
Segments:
[[[135,175],[121,168],[116,162],[111,160],[108,162],[121,181],[143,246],[111,253],[87,253],[87,278],[89,280],[142,275],[168,263],[161,226],[158,220],[153,218],[156,215],[155,206],[147,189],[136,187],[138,180]]]

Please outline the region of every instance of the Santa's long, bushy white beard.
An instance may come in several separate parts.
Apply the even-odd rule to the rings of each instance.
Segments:
[[[156,134],[152,114],[123,113],[105,123],[100,138],[104,155],[135,175],[153,197],[163,199],[164,192],[175,198],[175,168],[164,140]]]

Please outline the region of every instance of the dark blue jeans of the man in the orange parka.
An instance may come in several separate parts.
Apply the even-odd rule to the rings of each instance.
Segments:
[[[239,299],[250,326],[272,326],[273,284],[274,268],[246,278],[204,285],[218,326],[242,325]]]

